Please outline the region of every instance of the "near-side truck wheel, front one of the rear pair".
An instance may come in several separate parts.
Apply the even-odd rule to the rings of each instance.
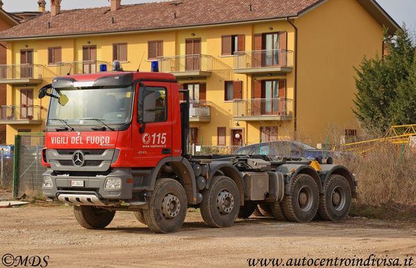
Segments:
[[[309,222],[319,206],[317,184],[308,174],[298,174],[292,183],[292,194],[285,195],[283,211],[290,221]]]

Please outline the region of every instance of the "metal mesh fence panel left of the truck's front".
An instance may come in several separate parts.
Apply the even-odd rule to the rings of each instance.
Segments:
[[[15,168],[13,174],[13,196],[42,194],[42,148],[44,135],[15,136]]]

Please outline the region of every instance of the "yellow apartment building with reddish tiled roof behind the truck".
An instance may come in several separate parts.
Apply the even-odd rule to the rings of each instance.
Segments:
[[[356,135],[353,66],[383,52],[383,26],[399,28],[374,0],[110,5],[60,10],[51,1],[51,12],[0,33],[8,144],[19,132],[44,131],[49,99],[38,99],[40,87],[113,60],[140,72],[158,60],[160,72],[176,76],[190,91],[192,144],[316,144],[335,125]]]

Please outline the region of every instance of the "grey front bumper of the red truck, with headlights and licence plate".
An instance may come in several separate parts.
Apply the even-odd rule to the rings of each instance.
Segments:
[[[116,168],[107,176],[65,176],[53,175],[52,169],[42,174],[52,179],[51,188],[43,187],[43,195],[74,205],[106,206],[119,200],[131,200],[133,183],[128,168]],[[104,189],[106,178],[122,178],[120,189]],[[83,181],[83,187],[72,186],[72,181]]]

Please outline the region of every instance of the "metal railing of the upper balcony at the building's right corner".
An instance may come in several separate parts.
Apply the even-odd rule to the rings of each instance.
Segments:
[[[293,51],[270,49],[234,53],[234,69],[293,67]]]

